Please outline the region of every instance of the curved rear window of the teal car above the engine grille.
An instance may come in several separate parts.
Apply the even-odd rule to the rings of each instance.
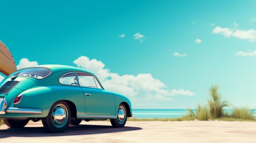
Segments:
[[[48,75],[50,75],[51,73],[52,73],[52,70],[48,68],[38,67],[38,68],[24,68],[12,73],[9,76],[18,75],[18,76],[25,76],[25,77],[33,77],[35,79],[43,79]]]

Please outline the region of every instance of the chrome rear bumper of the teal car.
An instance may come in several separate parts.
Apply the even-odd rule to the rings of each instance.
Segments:
[[[42,110],[26,108],[7,108],[7,102],[3,100],[0,103],[0,115],[4,115],[5,113],[42,114]]]

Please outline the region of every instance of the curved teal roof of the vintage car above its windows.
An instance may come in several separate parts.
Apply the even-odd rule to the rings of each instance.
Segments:
[[[82,68],[78,68],[78,67],[74,67],[74,66],[60,65],[60,64],[44,64],[44,65],[38,65],[38,66],[31,66],[29,68],[32,68],[32,67],[49,68],[52,70],[53,73],[59,73],[59,72],[63,72],[63,71],[79,71],[79,72],[85,72],[85,73],[90,73],[91,75],[94,75],[90,71],[82,69]]]

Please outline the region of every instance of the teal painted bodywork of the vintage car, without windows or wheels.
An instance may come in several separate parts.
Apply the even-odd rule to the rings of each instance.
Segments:
[[[87,70],[63,65],[41,65],[30,68],[47,68],[52,70],[52,73],[43,79],[12,74],[3,79],[0,82],[0,91],[8,81],[18,81],[18,84],[13,86],[8,93],[0,93],[0,98],[5,98],[7,103],[7,108],[4,109],[5,114],[0,114],[0,118],[44,118],[57,101],[66,101],[70,108],[73,108],[73,118],[76,119],[117,118],[120,103],[126,103],[126,108],[129,108],[128,117],[132,116],[130,100],[123,95],[106,91],[102,85],[101,88],[92,88],[59,83],[59,78],[69,72],[88,73],[96,78]],[[90,95],[85,95],[86,93]],[[13,100],[20,94],[22,94],[20,103],[14,105]]]

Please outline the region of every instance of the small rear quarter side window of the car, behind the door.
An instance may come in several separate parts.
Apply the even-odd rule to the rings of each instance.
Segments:
[[[75,72],[65,73],[62,75],[59,80],[61,84],[66,85],[72,85],[72,86],[78,86],[78,83],[76,81],[76,74]]]

